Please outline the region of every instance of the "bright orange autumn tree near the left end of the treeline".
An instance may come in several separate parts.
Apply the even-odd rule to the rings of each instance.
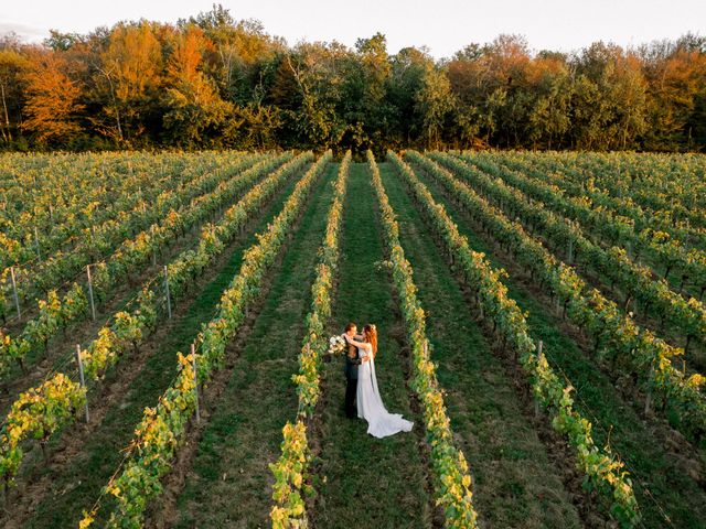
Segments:
[[[84,106],[78,102],[81,87],[63,72],[66,62],[55,52],[36,57],[24,74],[26,83],[26,119],[22,129],[34,134],[42,145],[66,145],[81,131],[77,115]]]

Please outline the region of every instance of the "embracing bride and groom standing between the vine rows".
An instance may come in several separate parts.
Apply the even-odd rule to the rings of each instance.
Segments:
[[[347,346],[345,350],[345,414],[367,421],[367,433],[375,438],[385,438],[397,432],[409,432],[413,422],[398,413],[385,409],[377,389],[375,356],[377,355],[377,330],[375,325],[365,325],[363,334],[357,334],[354,323],[349,323],[343,334]]]

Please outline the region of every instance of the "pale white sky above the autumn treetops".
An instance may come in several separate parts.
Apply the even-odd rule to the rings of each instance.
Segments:
[[[175,22],[208,11],[213,0],[24,0],[0,2],[0,33],[14,31],[41,42],[50,29],[87,33],[120,20]],[[501,33],[527,37],[531,48],[570,52],[602,40],[637,46],[706,35],[706,0],[222,0],[236,19],[257,19],[289,44],[336,40],[352,46],[382,32],[388,52],[428,46],[449,57],[469,43]],[[4,4],[4,6],[2,6]],[[9,8],[8,6],[11,6]]]

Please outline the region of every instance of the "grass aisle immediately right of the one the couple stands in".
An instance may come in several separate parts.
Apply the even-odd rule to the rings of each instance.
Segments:
[[[388,163],[381,175],[414,268],[432,360],[474,478],[474,505],[488,527],[580,527],[546,447],[523,415],[514,382],[471,316],[445,258]]]

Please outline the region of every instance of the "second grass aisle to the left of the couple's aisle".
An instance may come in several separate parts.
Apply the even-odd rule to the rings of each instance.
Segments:
[[[41,471],[51,477],[51,487],[33,509],[33,516],[24,527],[75,527],[82,509],[90,507],[100,487],[118,467],[122,458],[120,451],[132,439],[133,428],[141,420],[145,407],[154,406],[174,377],[176,352],[186,352],[201,324],[214,315],[221,293],[240,267],[243,251],[255,242],[255,233],[265,229],[267,223],[281,209],[296,180],[291,179],[276,199],[264,207],[261,218],[250,226],[247,236],[236,246],[226,264],[220,270],[207,272],[213,274],[213,280],[200,292],[189,295],[188,299],[192,302],[185,314],[170,323],[170,332],[157,345],[125,397],[111,404],[101,423],[86,440],[81,454],[60,472],[51,468]]]

